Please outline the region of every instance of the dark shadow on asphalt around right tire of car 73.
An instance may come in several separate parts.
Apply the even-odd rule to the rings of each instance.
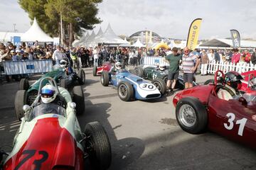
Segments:
[[[90,94],[85,93],[85,96],[87,96],[87,99],[90,98]],[[86,100],[85,114],[78,116],[78,120],[82,129],[89,122],[100,122],[110,138],[110,144],[112,147],[112,164],[110,169],[125,169],[126,166],[132,164],[141,157],[144,152],[145,145],[142,140],[136,137],[117,140],[114,130],[122,127],[122,125],[116,125],[114,127],[110,125],[110,122],[107,120],[110,117],[108,114],[110,107],[110,103],[93,104],[90,100]],[[88,161],[86,161],[85,164],[88,164],[89,169],[93,169]]]

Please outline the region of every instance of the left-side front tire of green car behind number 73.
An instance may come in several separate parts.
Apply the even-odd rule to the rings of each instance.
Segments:
[[[26,90],[19,90],[16,92],[14,101],[14,110],[16,118],[21,121],[24,116],[23,106],[27,103],[28,94]]]

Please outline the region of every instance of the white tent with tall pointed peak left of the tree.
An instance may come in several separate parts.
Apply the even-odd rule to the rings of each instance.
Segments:
[[[26,33],[21,35],[21,41],[23,42],[53,42],[53,38],[50,38],[43,30],[38,26],[36,18],[34,18],[33,25]]]

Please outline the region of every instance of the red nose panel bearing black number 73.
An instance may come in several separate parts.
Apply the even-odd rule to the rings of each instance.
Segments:
[[[37,121],[28,140],[4,169],[82,169],[83,153],[58,118]]]

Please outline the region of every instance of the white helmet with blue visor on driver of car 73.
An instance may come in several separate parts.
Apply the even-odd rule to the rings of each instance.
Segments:
[[[46,84],[41,90],[41,100],[43,103],[50,103],[55,100],[57,96],[56,89],[51,84]]]

